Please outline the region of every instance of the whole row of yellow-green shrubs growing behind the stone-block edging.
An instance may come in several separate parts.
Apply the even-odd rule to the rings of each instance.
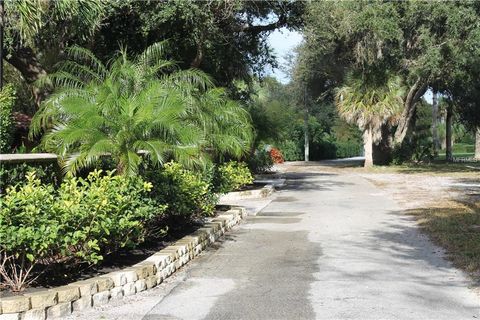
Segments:
[[[96,170],[86,178],[68,176],[61,184],[48,181],[49,166],[25,173],[28,169],[3,168],[17,172],[17,182],[1,195],[0,260],[6,263],[0,273],[17,291],[51,265],[98,264],[121,248],[163,236],[166,227],[181,229],[210,216],[217,192],[253,182],[246,164],[235,161],[206,173],[173,162],[144,168],[143,177]]]

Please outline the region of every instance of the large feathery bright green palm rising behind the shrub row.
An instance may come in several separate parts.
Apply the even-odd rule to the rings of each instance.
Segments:
[[[248,136],[222,121],[236,124],[239,120],[232,118],[246,119],[244,113],[224,95],[214,94],[220,90],[213,89],[206,74],[179,70],[163,59],[164,46],[154,44],[133,61],[121,50],[108,65],[86,49],[70,48],[70,59],[60,71],[41,82],[58,90],[35,115],[31,134],[46,130],[44,147],[61,155],[71,172],[90,167],[107,154],[119,174],[132,175],[142,151],[154,163],[175,159],[188,166],[204,160],[205,145],[219,147],[220,152],[238,151]],[[215,116],[224,118],[207,115],[212,106],[223,107]],[[221,131],[223,125],[229,134]],[[217,134],[239,135],[242,142],[230,141],[222,148],[213,143]]]

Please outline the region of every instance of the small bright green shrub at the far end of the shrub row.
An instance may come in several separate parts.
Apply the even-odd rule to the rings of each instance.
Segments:
[[[253,176],[245,163],[229,161],[217,167],[214,181],[217,192],[228,193],[253,183]]]

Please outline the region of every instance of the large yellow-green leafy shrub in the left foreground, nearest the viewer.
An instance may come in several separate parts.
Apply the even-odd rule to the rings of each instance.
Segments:
[[[92,172],[67,178],[58,190],[34,172],[9,187],[0,203],[0,274],[20,291],[52,265],[97,264],[120,248],[142,243],[165,206],[148,197],[141,178]]]

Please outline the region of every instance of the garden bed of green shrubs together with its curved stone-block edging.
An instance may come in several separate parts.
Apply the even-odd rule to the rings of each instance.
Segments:
[[[57,185],[34,170],[17,178],[1,195],[0,316],[31,319],[161,283],[246,215],[217,206],[218,194],[253,181],[235,162],[206,173],[173,162],[135,177],[95,170]]]

